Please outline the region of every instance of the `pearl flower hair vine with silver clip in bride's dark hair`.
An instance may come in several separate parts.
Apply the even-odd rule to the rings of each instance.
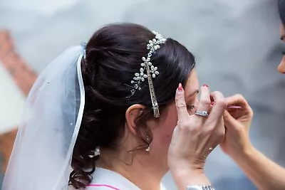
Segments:
[[[132,84],[132,90],[130,90],[130,93],[132,95],[135,94],[136,90],[141,90],[140,84],[143,83],[146,79],[148,81],[148,85],[150,88],[150,97],[152,100],[152,109],[154,112],[154,117],[160,117],[160,111],[158,108],[156,96],[155,96],[155,89],[153,88],[152,78],[155,78],[156,75],[159,75],[160,72],[157,70],[157,67],[155,65],[152,65],[150,62],[150,58],[152,57],[152,53],[157,51],[160,48],[160,45],[162,43],[165,43],[166,39],[161,36],[160,33],[157,33],[153,31],[152,33],[155,34],[155,38],[148,41],[147,43],[147,50],[150,50],[149,53],[147,53],[147,58],[142,57],[142,63],[140,63],[140,72],[135,73],[135,77],[133,80],[130,81]]]

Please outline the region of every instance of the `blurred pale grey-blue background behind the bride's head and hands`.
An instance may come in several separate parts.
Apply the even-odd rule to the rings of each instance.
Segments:
[[[177,39],[195,54],[200,84],[225,95],[242,93],[254,108],[252,142],[285,166],[285,76],[276,71],[285,47],[276,0],[0,0],[0,28],[9,29],[37,72],[116,21]],[[206,170],[217,189],[256,189],[220,149]],[[170,178],[165,176],[165,186],[176,189]]]

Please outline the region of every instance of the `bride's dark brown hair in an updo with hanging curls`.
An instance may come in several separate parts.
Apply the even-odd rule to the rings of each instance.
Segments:
[[[147,43],[152,38],[155,35],[143,26],[117,23],[100,28],[88,41],[86,59],[81,62],[86,104],[73,149],[73,171],[69,179],[74,188],[90,184],[98,159],[90,157],[90,154],[96,147],[116,149],[119,146],[128,107],[145,105],[137,130],[138,134],[144,134],[142,131],[150,133],[145,125],[145,121],[153,117],[148,83],[142,83],[142,89],[130,96],[130,81],[139,72],[142,57],[148,53]],[[152,54],[151,62],[160,72],[153,79],[153,85],[160,112],[163,112],[175,100],[178,84],[185,85],[195,66],[195,58],[185,46],[167,38],[161,48]]]

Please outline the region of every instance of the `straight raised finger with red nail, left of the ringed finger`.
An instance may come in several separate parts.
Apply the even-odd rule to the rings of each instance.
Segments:
[[[180,83],[175,95],[175,105],[177,110],[178,121],[187,121],[189,114],[187,112],[187,105],[185,102],[185,93]]]

